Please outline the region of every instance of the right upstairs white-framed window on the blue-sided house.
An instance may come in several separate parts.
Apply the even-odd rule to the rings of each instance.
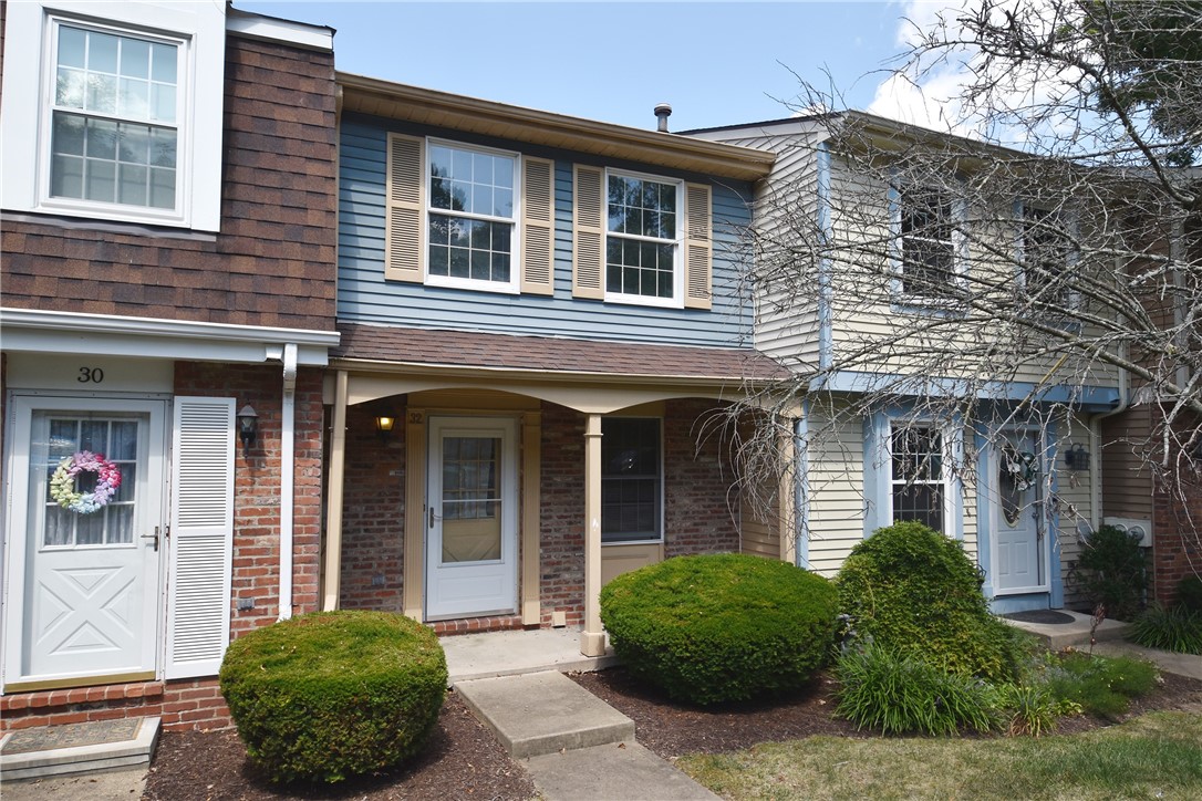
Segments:
[[[606,300],[680,305],[683,185],[606,173]]]

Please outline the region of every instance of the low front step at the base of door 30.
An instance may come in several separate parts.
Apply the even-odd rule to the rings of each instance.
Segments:
[[[161,718],[123,718],[10,731],[0,739],[5,779],[93,773],[148,765]]]

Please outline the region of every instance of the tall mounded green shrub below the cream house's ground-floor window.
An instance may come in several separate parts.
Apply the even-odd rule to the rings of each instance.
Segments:
[[[989,614],[960,544],[920,522],[877,528],[835,578],[857,638],[963,676],[1013,682],[1023,635]]]

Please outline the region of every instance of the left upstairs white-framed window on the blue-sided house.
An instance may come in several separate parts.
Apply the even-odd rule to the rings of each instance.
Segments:
[[[517,292],[517,155],[436,141],[428,153],[428,282]]]

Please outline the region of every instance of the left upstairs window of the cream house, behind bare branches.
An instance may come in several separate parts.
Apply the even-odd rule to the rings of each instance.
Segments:
[[[962,294],[963,237],[957,202],[927,186],[897,190],[894,294],[902,300],[950,301]]]

